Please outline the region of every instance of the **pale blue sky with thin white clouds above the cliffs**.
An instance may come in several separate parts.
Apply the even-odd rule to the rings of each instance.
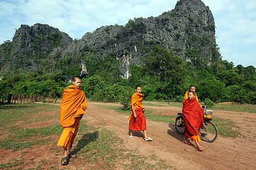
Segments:
[[[202,0],[216,24],[223,60],[256,67],[256,1]],[[129,19],[160,16],[177,0],[0,0],[0,44],[22,25],[48,24],[81,39],[101,26],[126,25]]]

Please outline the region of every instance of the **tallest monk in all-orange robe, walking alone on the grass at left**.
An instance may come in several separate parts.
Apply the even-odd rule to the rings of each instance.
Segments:
[[[61,160],[62,165],[67,165],[71,157],[76,157],[70,153],[74,138],[77,135],[79,123],[87,108],[87,97],[81,89],[81,78],[74,77],[74,85],[67,86],[62,91],[62,102],[60,104],[60,125],[63,131],[57,145],[64,148],[64,157]]]

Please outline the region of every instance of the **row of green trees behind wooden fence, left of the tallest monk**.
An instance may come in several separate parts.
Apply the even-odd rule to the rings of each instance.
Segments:
[[[45,95],[60,97],[67,84],[59,74],[39,75],[33,72],[28,74],[10,74],[0,80],[0,97],[13,95]]]

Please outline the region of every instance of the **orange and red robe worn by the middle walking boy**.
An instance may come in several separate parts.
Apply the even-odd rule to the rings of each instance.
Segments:
[[[129,130],[146,130],[146,118],[143,114],[143,108],[145,107],[142,104],[143,98],[144,94],[135,92],[130,100]],[[137,115],[137,118],[133,117],[132,105],[134,106],[134,111]]]

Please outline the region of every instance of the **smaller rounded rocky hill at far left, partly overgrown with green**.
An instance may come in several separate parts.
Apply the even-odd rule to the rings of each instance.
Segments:
[[[21,25],[13,36],[13,41],[7,46],[0,47],[0,62],[6,62],[1,69],[9,69],[18,72],[18,69],[33,71],[43,67],[43,60],[55,48],[64,48],[73,40],[66,33],[60,32],[57,28],[40,23],[34,26]],[[7,54],[6,54],[7,53]]]

